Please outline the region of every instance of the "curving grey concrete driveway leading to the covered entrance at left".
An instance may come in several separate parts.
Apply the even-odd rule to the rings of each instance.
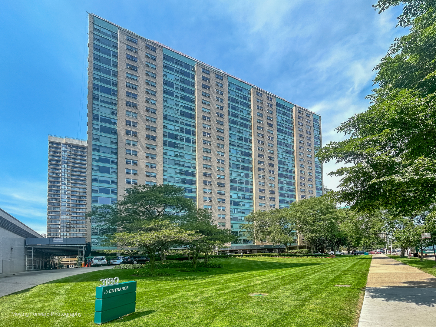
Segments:
[[[14,274],[0,274],[0,297],[11,293],[25,290],[27,288],[50,282],[55,279],[83,274],[96,270],[112,269],[113,266],[51,269],[17,272]],[[107,274],[104,274],[106,278]],[[103,278],[103,277],[102,277]]]

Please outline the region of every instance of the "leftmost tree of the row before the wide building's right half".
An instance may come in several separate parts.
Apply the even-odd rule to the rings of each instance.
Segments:
[[[256,211],[244,218],[244,228],[252,240],[264,239],[274,245],[283,244],[286,253],[290,252],[295,243],[296,225],[289,215],[289,209]]]

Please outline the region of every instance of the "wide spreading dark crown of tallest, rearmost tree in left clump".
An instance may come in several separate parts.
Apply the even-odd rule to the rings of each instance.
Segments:
[[[100,226],[134,232],[145,221],[177,221],[177,214],[196,210],[194,202],[185,198],[184,188],[172,184],[134,185],[126,192],[115,204],[95,206],[88,217]]]

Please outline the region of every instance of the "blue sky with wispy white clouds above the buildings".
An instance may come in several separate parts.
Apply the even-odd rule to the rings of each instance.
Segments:
[[[3,1],[0,208],[45,232],[47,136],[86,139],[87,11],[318,112],[326,144],[368,107],[372,69],[407,33],[400,7],[375,2]]]

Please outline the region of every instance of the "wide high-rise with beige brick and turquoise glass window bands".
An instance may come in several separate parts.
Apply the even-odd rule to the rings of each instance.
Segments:
[[[319,115],[93,14],[88,90],[88,211],[176,184],[245,244],[245,215],[322,195]]]

